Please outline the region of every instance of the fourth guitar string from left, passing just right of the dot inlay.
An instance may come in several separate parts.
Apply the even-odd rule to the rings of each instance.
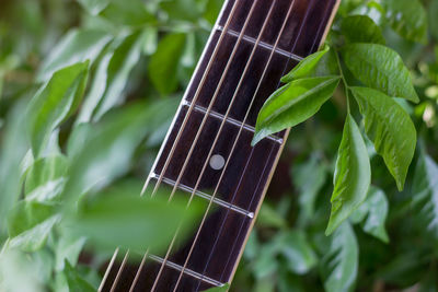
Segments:
[[[274,4],[274,3],[275,3],[275,1],[273,2],[273,4]],[[275,43],[275,45],[274,45],[274,47],[273,47],[273,49],[272,49],[272,51],[270,51],[269,59],[268,59],[268,61],[267,61],[267,63],[266,63],[266,66],[265,66],[265,68],[264,68],[264,71],[263,71],[263,73],[262,73],[262,77],[261,77],[261,79],[260,79],[260,81],[258,81],[257,89],[256,89],[256,91],[255,91],[255,93],[254,93],[254,95],[253,95],[253,97],[252,97],[252,101],[251,101],[251,104],[250,104],[250,106],[249,106],[249,109],[246,110],[244,121],[242,122],[242,126],[241,126],[240,129],[239,129],[237,139],[234,139],[233,145],[232,145],[232,148],[231,148],[231,153],[229,154],[229,156],[228,156],[228,159],[227,159],[227,162],[226,162],[226,164],[224,164],[224,166],[223,166],[223,168],[222,168],[221,175],[220,175],[220,177],[219,177],[219,182],[218,182],[218,184],[217,184],[217,186],[216,186],[216,188],[215,188],[215,191],[214,191],[211,198],[215,198],[215,196],[216,196],[216,194],[217,194],[217,191],[218,191],[219,185],[220,185],[220,183],[221,183],[221,180],[222,180],[222,178],[223,178],[224,172],[226,172],[226,170],[228,168],[228,164],[229,164],[229,162],[230,162],[230,160],[231,160],[232,153],[233,153],[233,151],[234,151],[234,149],[235,149],[235,147],[237,147],[237,143],[238,143],[238,141],[239,141],[239,137],[240,137],[240,135],[241,135],[241,132],[242,132],[243,125],[245,124],[245,121],[246,121],[246,119],[247,119],[247,116],[249,116],[249,114],[250,114],[251,107],[252,107],[252,105],[253,105],[253,103],[254,103],[254,100],[255,100],[255,97],[256,97],[256,95],[257,95],[257,93],[258,93],[258,90],[260,90],[260,87],[261,87],[261,85],[262,85],[262,82],[263,82],[263,80],[264,80],[264,78],[265,78],[265,74],[266,74],[266,72],[267,72],[267,68],[269,67],[269,63],[270,63],[270,60],[272,60],[272,58],[273,58],[273,56],[274,56],[275,49],[276,49],[277,46],[278,46],[279,39],[280,39],[280,37],[281,37],[281,35],[283,35],[283,32],[284,32],[284,30],[285,30],[285,27],[286,27],[286,24],[287,24],[287,21],[288,21],[289,16],[290,16],[291,11],[292,11],[293,4],[295,4],[295,0],[292,1],[292,3],[291,3],[290,7],[289,7],[289,10],[288,10],[288,13],[287,13],[287,15],[286,15],[286,17],[285,17],[285,21],[284,21],[284,23],[283,23],[281,30],[280,30],[280,32],[279,32],[279,34],[278,34],[278,37],[277,37],[277,39],[276,39],[276,43]],[[273,8],[273,7],[272,7],[272,8]],[[254,47],[256,47],[256,46],[254,46]],[[220,133],[220,132],[219,132],[219,133]],[[219,135],[218,135],[218,136],[219,136]],[[218,138],[218,136],[217,136],[217,138]],[[211,148],[211,151],[212,151],[212,149],[214,149],[214,147]],[[251,152],[253,152],[253,150],[254,150],[254,148],[251,150]],[[211,155],[211,151],[210,151],[209,155]],[[209,159],[209,157],[207,156],[206,164],[207,164],[207,162],[208,162],[208,159]],[[205,165],[206,165],[206,164],[205,164]],[[200,177],[198,178],[198,180],[199,180],[199,179],[200,179]],[[196,187],[195,187],[195,189],[196,189]],[[191,255],[192,255],[192,252],[193,252],[194,246],[195,246],[195,244],[196,244],[196,242],[197,242],[197,238],[198,238],[198,236],[199,236],[200,230],[203,229],[203,225],[204,225],[204,223],[205,223],[206,217],[207,217],[208,211],[209,211],[210,208],[211,208],[211,200],[210,200],[210,202],[209,202],[209,205],[208,205],[208,207],[207,207],[207,211],[205,212],[204,218],[203,218],[203,220],[201,220],[201,222],[200,222],[200,226],[199,226],[199,229],[198,229],[198,231],[197,231],[197,234],[195,235],[195,240],[194,240],[194,242],[193,242],[193,244],[192,244],[192,246],[191,246],[191,249],[189,249],[189,252],[188,252],[188,256],[186,257],[186,260],[185,260],[183,267],[186,267],[187,264],[188,264],[188,259],[189,259],[189,257],[191,257]],[[181,279],[181,275],[180,275],[180,279]],[[180,280],[180,279],[178,279],[178,280]],[[178,282],[177,282],[177,283],[178,283]],[[177,284],[176,284],[176,287],[177,287]],[[176,287],[175,287],[174,291],[176,290]]]

